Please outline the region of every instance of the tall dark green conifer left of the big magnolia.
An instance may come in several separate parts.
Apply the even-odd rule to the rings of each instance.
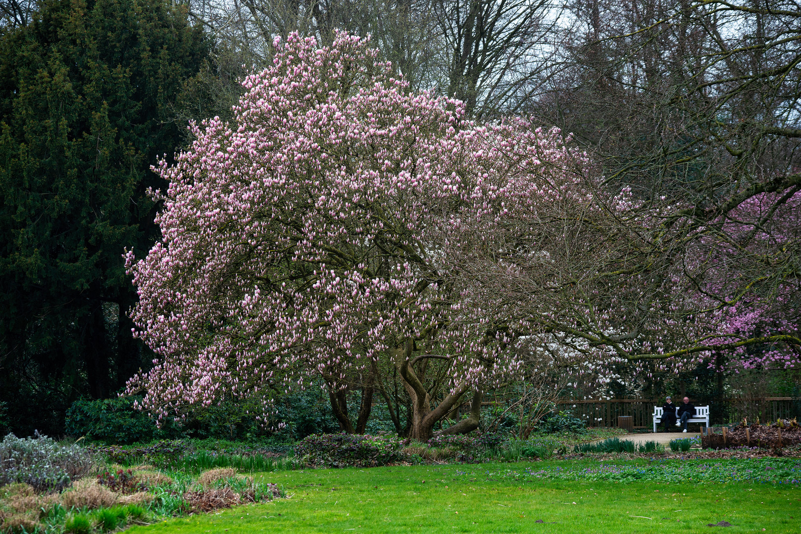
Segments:
[[[206,56],[160,0],[46,0],[0,38],[0,391],[18,432],[62,432],[75,396],[140,366],[121,255],[158,236],[150,166],[180,143],[171,108]]]

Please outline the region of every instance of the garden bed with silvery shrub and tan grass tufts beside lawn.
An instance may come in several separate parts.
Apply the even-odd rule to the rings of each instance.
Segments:
[[[136,451],[143,452],[162,467],[112,464],[113,454],[91,454],[46,436],[6,436],[0,442],[0,533],[111,532],[282,496],[264,476],[233,467],[200,468],[195,456],[182,456],[180,444]]]

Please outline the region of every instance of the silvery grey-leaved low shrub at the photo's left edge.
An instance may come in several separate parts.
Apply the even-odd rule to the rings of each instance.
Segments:
[[[86,449],[59,445],[47,436],[21,439],[9,434],[0,442],[0,485],[22,482],[38,490],[58,490],[86,475],[91,464]]]

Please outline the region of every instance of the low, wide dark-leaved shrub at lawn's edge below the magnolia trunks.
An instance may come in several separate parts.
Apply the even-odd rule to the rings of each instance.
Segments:
[[[312,434],[295,445],[295,454],[307,464],[368,467],[409,460],[402,446],[395,436]]]

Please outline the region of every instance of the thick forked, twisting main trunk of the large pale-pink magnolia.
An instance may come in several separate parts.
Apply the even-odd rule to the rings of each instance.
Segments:
[[[447,358],[439,355],[420,355],[412,358],[413,347],[414,342],[410,339],[407,340],[402,347],[396,347],[393,359],[398,375],[400,375],[404,387],[412,399],[412,428],[409,430],[408,437],[413,440],[428,441],[433,436],[434,425],[448,416],[454,408],[457,408],[461,403],[461,399],[471,388],[467,383],[461,383],[452,393],[445,395],[440,404],[432,408],[429,391],[425,388],[421,379],[418,378],[414,365],[421,362],[421,367],[425,369],[428,359]],[[483,393],[481,391],[474,391],[473,402],[470,406],[470,416],[440,433],[467,434],[478,428],[482,397]]]

